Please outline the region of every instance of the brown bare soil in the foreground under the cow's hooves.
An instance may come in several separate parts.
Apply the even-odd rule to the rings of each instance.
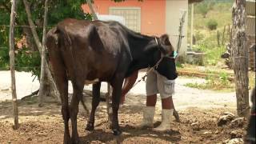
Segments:
[[[81,143],[229,143],[232,138],[241,140],[245,134],[246,121],[242,126],[231,123],[217,126],[218,118],[226,111],[235,113],[234,109],[197,107],[179,110],[181,122],[175,122],[173,118],[169,132],[138,130],[137,125],[142,121],[142,106],[120,108],[120,136],[114,136],[109,128],[105,102],[98,107],[95,130],[92,132],[85,130],[88,115],[80,106],[78,134]],[[30,99],[19,102],[19,112],[20,126],[18,130],[13,130],[11,102],[0,103],[0,143],[62,143],[63,122],[60,106],[56,103],[46,102],[45,106],[39,108],[34,99]],[[160,112],[156,110],[154,126],[160,124]]]

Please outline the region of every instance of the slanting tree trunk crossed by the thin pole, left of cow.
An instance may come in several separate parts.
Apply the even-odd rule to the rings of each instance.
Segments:
[[[30,25],[30,30],[31,30],[31,33],[33,35],[33,38],[34,38],[34,42],[38,48],[38,51],[40,54],[42,54],[42,43],[40,42],[39,38],[38,38],[38,33],[37,31],[35,30],[35,25],[34,25],[34,22],[32,20],[32,16],[31,16],[31,11],[30,11],[30,3],[27,2],[26,0],[23,0],[23,3],[24,3],[24,6],[25,6],[25,10],[26,10],[26,14],[27,14],[27,19],[28,19],[28,22],[29,22],[29,25]],[[57,86],[54,82],[54,79],[50,73],[50,69],[49,69],[49,65],[47,62],[45,62],[46,66],[45,66],[45,73],[46,73],[46,84],[48,84],[50,89],[49,90],[46,90],[46,91],[49,91],[48,94],[46,95],[51,95],[51,96],[54,96],[56,99],[58,99],[58,102],[60,102],[60,97],[59,97],[59,93],[58,93],[58,90],[57,90]]]

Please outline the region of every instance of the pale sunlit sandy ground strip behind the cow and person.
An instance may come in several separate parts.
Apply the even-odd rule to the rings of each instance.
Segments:
[[[142,78],[144,72],[138,75],[138,79]],[[24,72],[16,72],[16,86],[18,99],[27,94],[31,94],[34,90],[38,90],[39,82],[34,79],[31,74]],[[198,90],[184,86],[188,82],[204,82],[202,78],[184,78],[179,77],[176,80],[174,94],[174,104],[177,110],[184,110],[187,107],[200,108],[235,108],[235,93],[218,93],[212,90]],[[92,86],[85,86],[86,90],[92,90]],[[106,92],[106,83],[102,83],[102,92]],[[69,93],[72,93],[72,85],[69,85]],[[134,105],[136,103],[145,103],[146,100],[145,82],[139,82],[130,93],[126,96],[126,105]],[[0,71],[0,101],[11,99],[10,93],[10,71]],[[158,106],[161,101],[158,98]]]

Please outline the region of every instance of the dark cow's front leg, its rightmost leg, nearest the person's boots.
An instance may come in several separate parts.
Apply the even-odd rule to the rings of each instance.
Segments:
[[[118,124],[118,109],[119,109],[119,102],[122,93],[122,79],[116,79],[113,82],[113,95],[112,95],[112,110],[113,110],[113,123],[112,123],[112,130],[114,135],[122,134],[122,131],[119,128]]]

